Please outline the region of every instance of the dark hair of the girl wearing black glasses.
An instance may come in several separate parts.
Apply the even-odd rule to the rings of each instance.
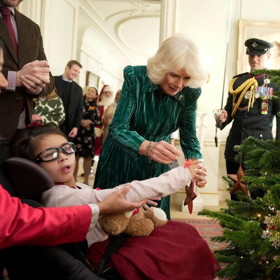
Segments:
[[[11,139],[11,148],[14,156],[23,157],[28,160],[35,161],[35,153],[41,139],[47,135],[57,134],[65,137],[67,136],[51,125],[41,125],[37,127],[27,127],[25,129],[18,129]]]

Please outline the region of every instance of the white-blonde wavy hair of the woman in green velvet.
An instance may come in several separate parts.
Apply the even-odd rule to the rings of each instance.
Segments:
[[[191,77],[188,87],[199,88],[205,83],[207,74],[200,61],[197,46],[184,34],[176,33],[167,38],[156,54],[148,59],[148,77],[152,83],[159,85],[167,73],[182,69]]]

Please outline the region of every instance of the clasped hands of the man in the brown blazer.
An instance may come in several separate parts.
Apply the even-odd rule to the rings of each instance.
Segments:
[[[25,91],[30,94],[40,92],[50,83],[50,68],[46,60],[35,60],[25,64],[17,71],[16,86],[24,86]]]

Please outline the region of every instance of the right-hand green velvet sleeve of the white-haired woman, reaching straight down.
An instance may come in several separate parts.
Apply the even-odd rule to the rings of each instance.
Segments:
[[[185,158],[202,158],[200,153],[199,141],[196,135],[196,109],[197,109],[197,98],[201,94],[201,89],[195,89],[191,94],[194,95],[195,100],[191,100],[185,114],[182,118],[179,133],[180,133],[180,144],[185,155]]]

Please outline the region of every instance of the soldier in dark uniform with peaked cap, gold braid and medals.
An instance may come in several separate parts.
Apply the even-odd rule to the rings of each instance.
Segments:
[[[252,38],[245,41],[245,46],[251,70],[266,68],[270,58],[269,50],[273,45],[267,41]],[[270,99],[272,92],[279,90],[276,84],[269,83],[267,75],[253,75],[247,72],[234,76],[230,81],[227,104],[220,116],[221,129],[233,120],[225,146],[227,174],[237,174],[239,168],[239,164],[234,160],[237,155],[233,149],[235,145],[240,145],[241,141],[248,136],[263,140],[273,138],[274,116],[277,124],[276,139],[280,138],[280,118],[277,117],[280,103]],[[268,108],[263,112],[265,114],[262,114],[264,96],[268,96]],[[252,198],[263,195],[262,190],[251,192]],[[234,194],[231,194],[231,199],[236,200]]]

